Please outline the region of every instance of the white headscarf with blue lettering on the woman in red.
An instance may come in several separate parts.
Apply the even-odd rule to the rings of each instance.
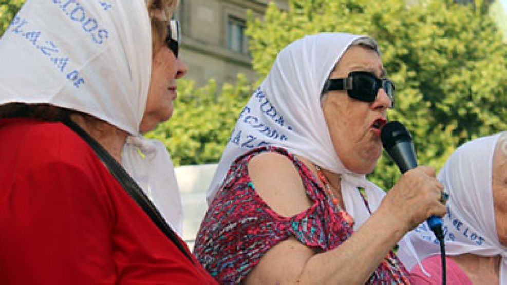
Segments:
[[[124,167],[147,194],[163,193],[151,198],[180,232],[181,202],[171,159],[161,143],[139,135],[151,63],[144,0],[28,0],[0,40],[0,104],[47,103],[128,132]],[[137,148],[149,154],[143,158]]]

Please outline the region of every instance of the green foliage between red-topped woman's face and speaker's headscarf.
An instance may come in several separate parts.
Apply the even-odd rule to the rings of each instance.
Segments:
[[[171,120],[146,137],[163,141],[175,165],[218,162],[252,92],[252,84],[241,74],[235,85],[224,84],[222,90],[213,79],[200,88],[193,81],[179,80]]]

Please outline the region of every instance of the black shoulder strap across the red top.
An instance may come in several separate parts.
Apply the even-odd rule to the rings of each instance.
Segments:
[[[125,191],[136,201],[136,203],[148,214],[149,218],[158,226],[158,228],[169,238],[183,254],[194,263],[189,253],[185,250],[183,244],[181,244],[177,235],[174,233],[171,226],[167,224],[165,219],[160,215],[157,208],[153,203],[146,197],[142,189],[137,185],[136,181],[128,175],[125,169],[105,150],[99,142],[93,139],[84,129],[74,123],[72,120],[67,119],[63,121],[70,129],[78,134],[83,140],[85,140],[91,148],[95,151],[100,160],[109,169],[109,172],[118,180],[123,186]]]

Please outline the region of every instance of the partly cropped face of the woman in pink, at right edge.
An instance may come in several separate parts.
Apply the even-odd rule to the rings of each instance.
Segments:
[[[500,138],[495,149],[492,186],[498,239],[507,246],[507,138]]]

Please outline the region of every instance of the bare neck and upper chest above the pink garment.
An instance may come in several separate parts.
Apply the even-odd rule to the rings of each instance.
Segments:
[[[468,275],[468,278],[474,284],[498,284],[500,277],[501,257],[479,256],[471,253],[465,253],[451,257],[461,269]],[[493,279],[493,280],[492,280]],[[496,281],[495,281],[496,280]]]

